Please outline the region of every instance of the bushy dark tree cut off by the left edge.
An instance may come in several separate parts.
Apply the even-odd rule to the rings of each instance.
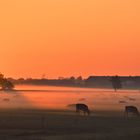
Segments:
[[[14,84],[7,80],[3,74],[0,74],[0,87],[2,90],[11,90],[14,88]]]

